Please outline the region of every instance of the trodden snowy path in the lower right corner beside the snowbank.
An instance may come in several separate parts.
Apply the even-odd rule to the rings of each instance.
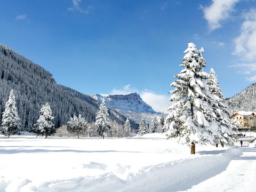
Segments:
[[[239,150],[243,154],[231,159],[225,171],[186,191],[256,191],[256,143],[246,143]]]

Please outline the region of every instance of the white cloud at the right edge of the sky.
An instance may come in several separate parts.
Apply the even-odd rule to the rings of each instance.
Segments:
[[[233,54],[242,57],[242,60],[256,59],[256,9],[244,15],[245,22],[241,27],[241,35],[235,39]]]

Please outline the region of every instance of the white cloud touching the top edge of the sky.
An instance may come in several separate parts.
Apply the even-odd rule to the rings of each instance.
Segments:
[[[207,20],[210,31],[221,27],[221,21],[229,18],[234,6],[240,0],[212,0],[208,7],[202,7],[204,18]]]

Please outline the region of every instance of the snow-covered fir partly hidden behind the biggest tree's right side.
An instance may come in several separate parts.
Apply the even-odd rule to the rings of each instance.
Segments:
[[[233,131],[233,121],[231,120],[230,116],[230,109],[227,105],[226,99],[222,94],[222,90],[220,89],[220,84],[217,80],[217,75],[215,71],[211,69],[209,79],[207,80],[207,84],[209,85],[209,92],[214,96],[214,100],[211,100],[211,105],[213,111],[216,115],[215,123],[218,127],[218,133],[215,134],[216,142],[220,142],[221,145],[227,144],[232,145],[234,143],[233,138],[229,137]]]

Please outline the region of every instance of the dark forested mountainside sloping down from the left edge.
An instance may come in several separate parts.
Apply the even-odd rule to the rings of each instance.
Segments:
[[[49,102],[55,127],[67,124],[70,117],[81,114],[89,123],[95,121],[98,101],[89,95],[58,85],[44,68],[0,44],[0,112],[5,109],[11,89],[17,101],[22,129],[28,130],[36,123],[39,110]],[[126,118],[110,110],[110,118],[125,122]],[[2,115],[0,117],[2,123]],[[135,125],[131,122],[132,125]]]

